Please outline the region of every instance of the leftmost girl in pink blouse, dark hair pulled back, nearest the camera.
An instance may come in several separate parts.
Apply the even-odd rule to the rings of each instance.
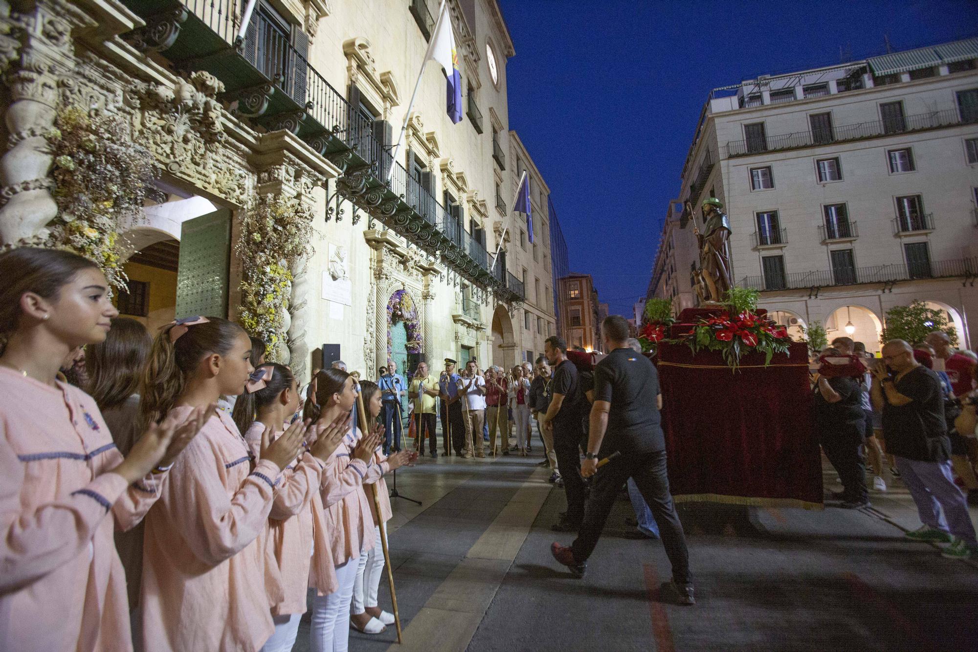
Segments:
[[[114,525],[139,523],[207,410],[151,426],[123,460],[92,397],[56,380],[118,315],[103,273],[21,248],[0,278],[0,650],[131,650]]]

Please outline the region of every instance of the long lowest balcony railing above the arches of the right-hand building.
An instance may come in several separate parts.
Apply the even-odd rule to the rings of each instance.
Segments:
[[[820,269],[771,276],[747,276],[737,283],[742,288],[755,290],[807,290],[831,286],[859,285],[863,283],[894,283],[919,278],[974,277],[978,275],[978,257],[955,260],[914,261],[911,264],[896,263],[872,267],[844,267],[835,270]]]

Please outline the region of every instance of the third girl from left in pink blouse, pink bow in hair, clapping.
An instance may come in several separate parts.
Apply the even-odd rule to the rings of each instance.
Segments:
[[[289,367],[268,363],[255,370],[245,393],[235,402],[234,414],[244,432],[244,441],[256,458],[261,457],[262,439],[266,445],[269,439],[277,439],[298,405],[295,378]],[[244,423],[254,417],[256,421]],[[265,574],[273,577],[266,584],[281,585],[282,594],[269,593],[275,633],[265,642],[262,652],[292,649],[299,619],[306,610],[308,586],[323,594],[338,588],[320,486],[326,462],[346,427],[346,417],[341,415],[282,473],[282,483],[272,502],[270,532],[265,537]]]

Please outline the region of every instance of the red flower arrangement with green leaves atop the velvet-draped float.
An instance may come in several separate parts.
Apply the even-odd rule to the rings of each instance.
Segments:
[[[702,349],[721,351],[735,369],[746,352],[764,353],[764,363],[770,364],[775,353],[788,352],[790,339],[783,326],[744,310],[734,316],[721,312],[702,320],[689,334],[688,342],[694,353]]]

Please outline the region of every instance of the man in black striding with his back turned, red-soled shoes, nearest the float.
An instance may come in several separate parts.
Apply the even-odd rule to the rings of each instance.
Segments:
[[[606,317],[601,322],[601,337],[604,350],[611,352],[595,368],[591,434],[581,467],[581,475],[585,478],[597,476],[591,487],[580,535],[570,547],[555,542],[551,552],[574,575],[583,576],[615,497],[625,481],[632,478],[652,510],[666,555],[672,563],[673,579],[662,584],[663,591],[680,604],[694,604],[686,536],[669,493],[666,475],[665,438],[659,425],[662,395],[658,373],[645,355],[625,344],[628,322],[624,317]],[[599,473],[598,460],[614,452],[621,454]],[[569,475],[570,472],[564,472],[565,483]]]

